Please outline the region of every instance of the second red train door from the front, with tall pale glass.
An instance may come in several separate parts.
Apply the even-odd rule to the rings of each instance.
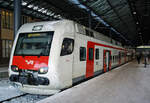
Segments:
[[[107,72],[111,69],[111,51],[109,50],[104,50],[103,53],[103,67],[104,67],[104,72]]]

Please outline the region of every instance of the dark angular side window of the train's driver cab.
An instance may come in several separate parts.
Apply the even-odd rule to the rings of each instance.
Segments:
[[[62,47],[61,47],[60,56],[71,54],[73,52],[73,48],[74,48],[74,40],[70,38],[64,38]]]

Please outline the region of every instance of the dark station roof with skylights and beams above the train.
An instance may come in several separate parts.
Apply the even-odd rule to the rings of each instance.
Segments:
[[[13,0],[0,0],[0,7],[13,10]],[[149,0],[22,0],[22,11],[43,20],[64,18],[85,26],[90,17],[92,29],[125,45],[150,42]]]

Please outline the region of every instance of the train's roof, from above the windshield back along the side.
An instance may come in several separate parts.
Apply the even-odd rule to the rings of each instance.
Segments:
[[[78,24],[74,21],[67,20],[67,19],[57,20],[57,21],[43,21],[43,22],[26,23],[26,24],[21,26],[21,28],[19,29],[19,32],[23,33],[23,32],[27,32],[27,31],[28,32],[54,31],[56,29],[55,26],[60,26],[61,25],[61,26],[64,27],[64,25],[65,25],[65,27],[66,27],[66,23],[67,23],[69,28],[71,28],[71,26],[74,26],[74,24],[75,24],[76,32],[78,32],[80,34],[83,34],[83,35],[86,35],[86,36],[91,36],[95,39],[110,43],[112,45],[121,46],[120,42],[118,42],[114,39],[111,39],[110,37],[107,37],[102,33],[96,32],[92,29],[89,29],[88,27],[85,27],[83,25],[80,25],[80,24]],[[67,30],[68,31],[70,30],[70,32],[73,32],[73,29],[67,29]],[[92,35],[87,33],[87,32],[92,33]]]

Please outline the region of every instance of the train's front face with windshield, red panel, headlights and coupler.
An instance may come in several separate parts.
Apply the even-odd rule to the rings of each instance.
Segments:
[[[34,28],[40,29],[33,26],[32,31]],[[50,89],[48,74],[53,35],[54,31],[18,33],[10,58],[9,79],[20,90],[44,95],[58,92]]]

